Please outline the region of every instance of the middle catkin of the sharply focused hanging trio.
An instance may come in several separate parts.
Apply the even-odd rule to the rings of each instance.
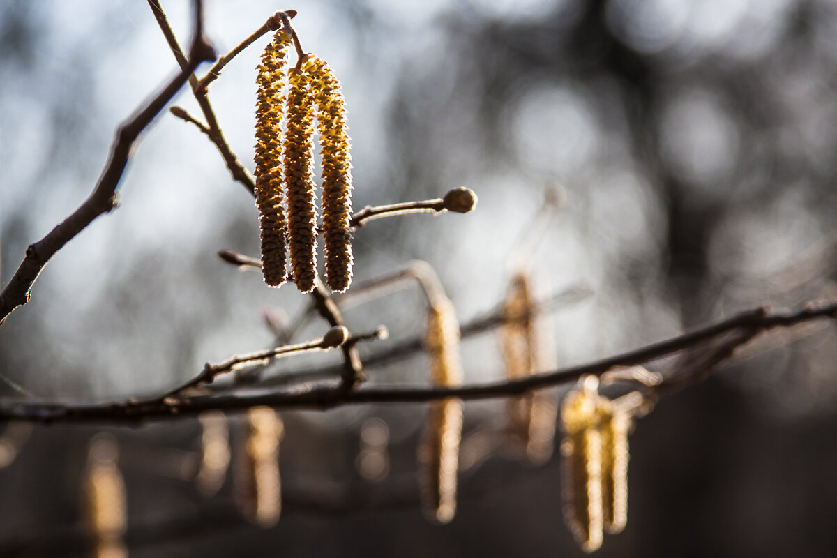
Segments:
[[[285,186],[288,244],[296,288],[314,289],[316,280],[316,192],[314,175],[314,95],[308,74],[290,69],[288,125],[285,131]]]

